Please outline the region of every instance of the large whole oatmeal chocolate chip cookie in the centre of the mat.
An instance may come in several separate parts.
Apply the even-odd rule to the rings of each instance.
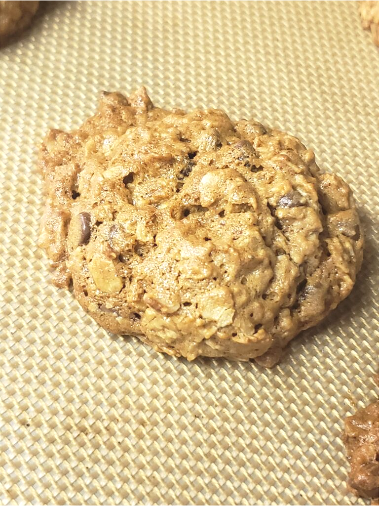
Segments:
[[[352,192],[288,134],[220,110],[103,93],[40,152],[41,245],[111,332],[155,350],[277,362],[350,293],[362,261]]]

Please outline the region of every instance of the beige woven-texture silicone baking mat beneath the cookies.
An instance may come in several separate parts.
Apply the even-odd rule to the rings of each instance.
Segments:
[[[343,418],[377,369],[379,50],[357,2],[41,2],[0,51],[2,504],[364,504]],[[185,360],[108,334],[50,283],[36,146],[101,90],[300,137],[351,184],[351,296],[281,364]],[[324,502],[325,501],[325,502]]]

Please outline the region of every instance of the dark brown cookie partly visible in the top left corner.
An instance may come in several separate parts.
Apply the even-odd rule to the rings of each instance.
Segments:
[[[20,32],[30,23],[39,0],[0,0],[0,46],[16,32]]]

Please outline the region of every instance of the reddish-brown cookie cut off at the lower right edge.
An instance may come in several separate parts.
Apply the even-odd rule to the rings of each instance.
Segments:
[[[371,498],[372,505],[378,504],[379,401],[345,419],[344,443],[351,466],[349,490],[357,496]]]

